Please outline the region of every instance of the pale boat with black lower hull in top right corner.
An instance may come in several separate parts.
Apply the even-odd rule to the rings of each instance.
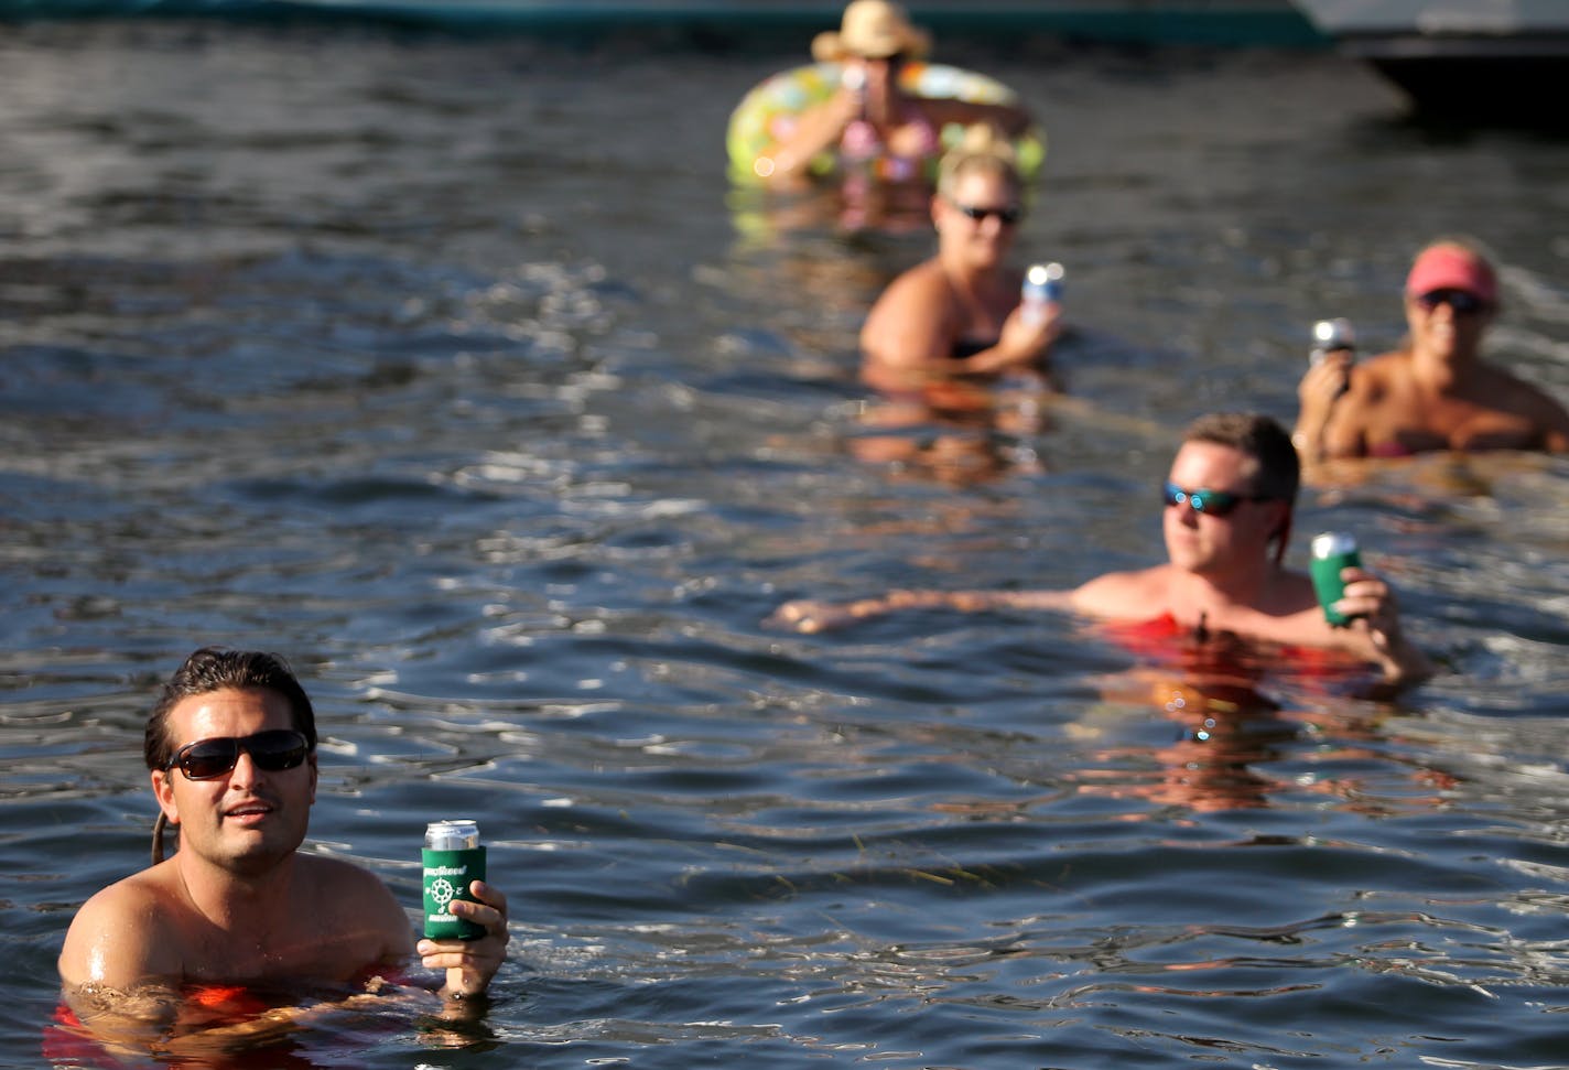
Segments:
[[[1569,0],[1296,0],[1432,116],[1569,126]]]

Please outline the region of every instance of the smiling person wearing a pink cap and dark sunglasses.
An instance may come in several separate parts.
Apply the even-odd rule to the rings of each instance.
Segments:
[[[1406,278],[1406,344],[1362,364],[1346,351],[1309,369],[1291,441],[1304,461],[1428,450],[1569,450],[1569,413],[1481,358],[1498,279],[1472,245],[1443,238]]]

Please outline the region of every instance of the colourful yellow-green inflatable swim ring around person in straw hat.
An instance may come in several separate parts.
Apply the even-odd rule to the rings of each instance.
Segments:
[[[736,182],[761,182],[756,166],[763,151],[789,133],[795,116],[827,100],[838,88],[838,63],[808,63],[780,71],[753,86],[730,115],[725,133],[731,177]],[[905,63],[899,67],[899,88],[916,97],[959,99],[968,104],[1014,104],[1018,97],[996,78],[941,63]],[[957,122],[940,132],[945,149],[959,144],[962,136],[963,127]],[[1014,151],[1018,173],[1028,180],[1047,157],[1047,136],[1032,127],[1014,141]],[[835,152],[821,152],[811,162],[811,173],[817,176],[832,174],[836,168]]]

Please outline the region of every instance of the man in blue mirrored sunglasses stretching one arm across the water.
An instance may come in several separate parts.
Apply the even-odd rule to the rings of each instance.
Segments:
[[[1432,665],[1401,631],[1389,584],[1346,568],[1335,607],[1354,620],[1337,629],[1324,620],[1312,580],[1282,565],[1299,479],[1291,439],[1272,419],[1205,416],[1185,431],[1167,475],[1164,565],[1108,573],[1065,591],[893,591],[843,606],[795,601],[772,620],[816,632],[897,609],[1050,609],[1340,650],[1376,665],[1387,684],[1426,679]]]

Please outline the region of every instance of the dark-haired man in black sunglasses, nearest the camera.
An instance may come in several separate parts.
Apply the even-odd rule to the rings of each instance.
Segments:
[[[416,948],[381,880],[298,850],[315,802],[315,739],[311,700],[273,654],[202,648],[169,678],[144,739],[162,811],[154,864],[88,899],[60,954],[66,999],[85,1025],[180,1032],[191,1025],[187,985],[373,992],[384,984],[373,974],[416,951],[446,971],[446,999],[485,992],[507,954],[501,891],[475,880],[479,902],[449,907],[483,937]],[[160,861],[165,824],[179,830],[179,849]]]

